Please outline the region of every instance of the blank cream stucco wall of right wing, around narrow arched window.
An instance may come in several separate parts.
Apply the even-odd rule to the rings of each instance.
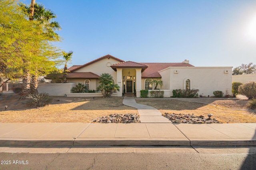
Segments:
[[[185,89],[186,80],[190,80],[190,89],[199,89],[202,96],[214,96],[212,93],[221,90],[232,93],[232,67],[169,67],[159,73],[164,77],[170,73],[170,95],[172,90]],[[162,80],[164,78],[162,77]]]

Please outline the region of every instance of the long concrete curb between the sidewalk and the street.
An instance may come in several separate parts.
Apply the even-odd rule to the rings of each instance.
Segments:
[[[230,147],[230,146],[256,146],[256,140],[251,139],[164,139],[164,138],[88,138],[88,139],[0,139],[0,147],[86,147],[86,146],[208,146],[208,147]]]

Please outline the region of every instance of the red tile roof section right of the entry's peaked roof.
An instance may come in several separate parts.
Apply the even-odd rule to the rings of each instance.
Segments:
[[[162,76],[158,71],[168,68],[170,66],[179,67],[179,66],[193,66],[187,63],[140,63],[148,65],[148,68],[142,72],[142,78],[161,78]]]

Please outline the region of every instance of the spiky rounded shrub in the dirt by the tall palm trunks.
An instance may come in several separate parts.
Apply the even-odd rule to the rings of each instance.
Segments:
[[[29,94],[25,98],[30,100],[28,104],[34,107],[48,106],[52,102],[52,98],[47,93]]]

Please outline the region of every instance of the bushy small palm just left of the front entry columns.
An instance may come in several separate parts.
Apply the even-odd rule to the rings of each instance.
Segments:
[[[99,77],[100,85],[97,87],[98,91],[101,91],[104,98],[110,98],[114,91],[120,91],[118,84],[114,84],[113,77],[109,73],[102,73]]]

